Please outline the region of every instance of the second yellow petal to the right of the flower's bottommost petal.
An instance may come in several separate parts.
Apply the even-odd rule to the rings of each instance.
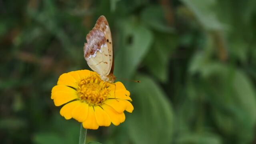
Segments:
[[[108,106],[106,104],[102,105],[103,110],[108,114],[110,117],[111,122],[117,126],[120,123],[124,122],[125,120],[125,115],[124,113],[118,113],[116,110],[114,110],[111,106]]]

